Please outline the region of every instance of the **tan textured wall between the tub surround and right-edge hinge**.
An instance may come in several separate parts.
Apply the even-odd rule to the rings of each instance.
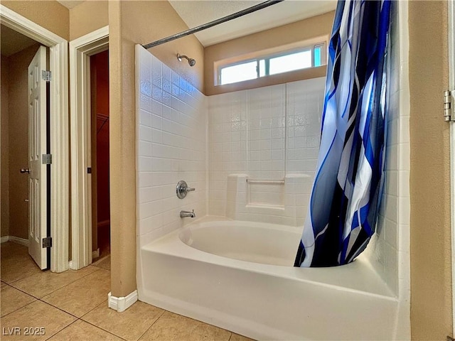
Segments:
[[[451,165],[441,101],[448,85],[446,4],[409,4],[412,340],[452,335]]]

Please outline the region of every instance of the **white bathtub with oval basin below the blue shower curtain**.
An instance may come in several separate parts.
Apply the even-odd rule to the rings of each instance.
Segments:
[[[206,217],[138,253],[139,300],[259,340],[397,340],[397,298],[366,259],[294,268],[295,228]]]

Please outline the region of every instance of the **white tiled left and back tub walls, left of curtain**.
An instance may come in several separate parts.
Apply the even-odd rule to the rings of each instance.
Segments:
[[[137,58],[138,244],[190,223],[180,210],[301,228],[325,80],[205,97],[139,46]],[[178,180],[196,191],[178,199]]]

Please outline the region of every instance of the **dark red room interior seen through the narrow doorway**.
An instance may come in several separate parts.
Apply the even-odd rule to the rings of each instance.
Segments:
[[[109,50],[90,56],[92,261],[110,254]]]

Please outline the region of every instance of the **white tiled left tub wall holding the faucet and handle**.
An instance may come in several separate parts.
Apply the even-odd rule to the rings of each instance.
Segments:
[[[137,235],[138,245],[207,214],[207,107],[196,87],[140,45],[137,52]],[[196,191],[184,199],[176,185]]]

